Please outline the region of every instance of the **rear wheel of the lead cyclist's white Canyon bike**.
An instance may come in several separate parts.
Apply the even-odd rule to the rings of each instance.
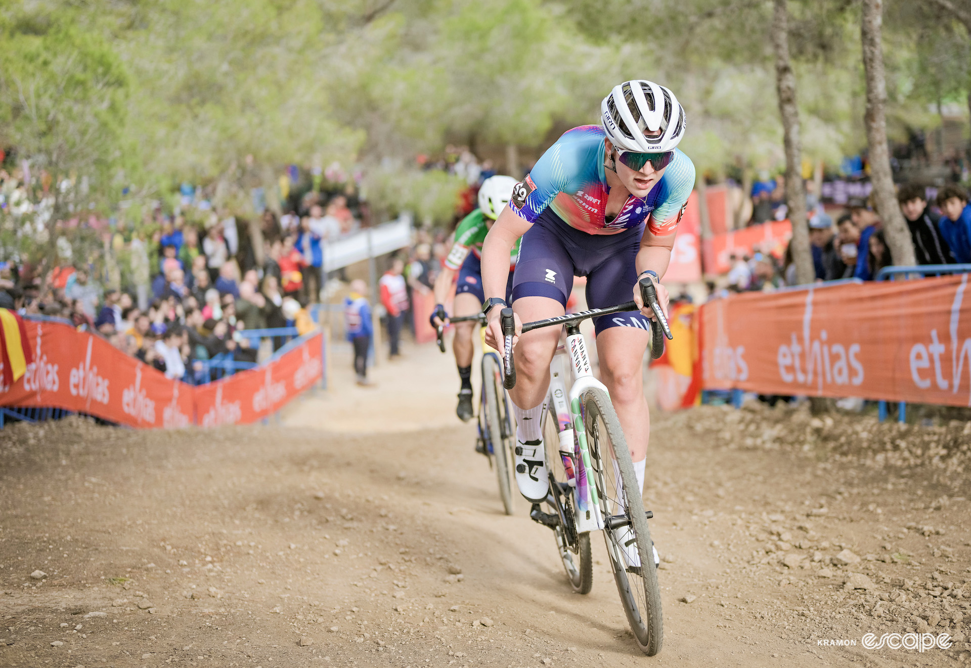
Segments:
[[[553,528],[556,538],[556,551],[563,570],[566,571],[570,587],[577,593],[589,593],[593,588],[593,561],[590,557],[590,534],[577,533],[574,518],[573,488],[561,486],[567,481],[563,460],[559,456],[559,433],[556,426],[556,413],[550,407],[545,416],[543,442],[546,444],[547,468],[550,471],[550,490],[556,498],[558,508],[546,503],[547,512],[558,515],[560,525]]]

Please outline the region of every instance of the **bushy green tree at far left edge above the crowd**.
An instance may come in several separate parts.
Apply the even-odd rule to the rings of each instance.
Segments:
[[[8,185],[0,252],[46,270],[86,262],[99,241],[62,221],[104,214],[132,154],[123,128],[129,79],[110,42],[70,8],[0,6],[0,145],[13,146],[30,182]]]

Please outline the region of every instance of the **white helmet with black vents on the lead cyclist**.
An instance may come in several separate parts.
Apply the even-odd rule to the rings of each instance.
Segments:
[[[653,81],[630,80],[614,86],[600,103],[600,124],[607,139],[623,150],[663,153],[685,136],[685,110],[669,89]],[[661,134],[651,138],[645,132]]]

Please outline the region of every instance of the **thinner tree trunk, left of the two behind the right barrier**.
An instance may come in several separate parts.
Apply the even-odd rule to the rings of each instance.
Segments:
[[[775,0],[772,18],[772,47],[776,54],[776,90],[779,113],[783,118],[786,145],[786,207],[792,223],[792,261],[796,281],[801,285],[816,280],[813,252],[806,225],[806,192],[802,185],[802,145],[799,140],[799,109],[795,103],[795,74],[788,52],[787,0]]]

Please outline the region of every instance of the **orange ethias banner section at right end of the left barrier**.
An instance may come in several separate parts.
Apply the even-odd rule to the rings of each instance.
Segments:
[[[323,374],[322,343],[314,334],[263,366],[195,387],[197,424],[247,425],[277,412]]]

